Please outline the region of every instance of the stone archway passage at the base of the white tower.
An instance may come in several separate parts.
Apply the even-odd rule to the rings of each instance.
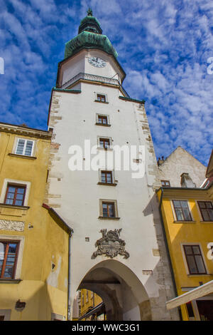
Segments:
[[[151,304],[143,284],[129,267],[114,259],[96,264],[78,289],[89,289],[104,301],[107,320],[151,320]]]

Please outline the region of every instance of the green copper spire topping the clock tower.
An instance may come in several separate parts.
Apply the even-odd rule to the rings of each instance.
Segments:
[[[109,38],[102,35],[99,21],[92,16],[91,8],[87,10],[87,16],[80,22],[78,35],[65,44],[65,58],[72,56],[82,48],[99,48],[114,57],[118,56]]]

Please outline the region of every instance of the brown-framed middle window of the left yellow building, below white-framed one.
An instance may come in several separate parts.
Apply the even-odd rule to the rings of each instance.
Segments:
[[[7,205],[23,206],[26,186],[9,184],[4,203]]]

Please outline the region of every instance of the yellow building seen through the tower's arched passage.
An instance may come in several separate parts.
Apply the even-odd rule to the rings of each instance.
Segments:
[[[80,318],[82,321],[106,320],[104,302],[96,293],[88,289],[80,290]]]

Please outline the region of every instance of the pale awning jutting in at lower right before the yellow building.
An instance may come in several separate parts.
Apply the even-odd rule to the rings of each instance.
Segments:
[[[207,294],[211,294],[213,292],[213,280],[207,282],[206,284],[200,285],[200,287],[196,287],[196,289],[192,289],[190,292],[185,294],[181,294],[179,297],[176,297],[170,301],[167,301],[166,308],[173,309],[182,304],[186,304],[189,301],[198,299],[200,297],[204,297]]]

